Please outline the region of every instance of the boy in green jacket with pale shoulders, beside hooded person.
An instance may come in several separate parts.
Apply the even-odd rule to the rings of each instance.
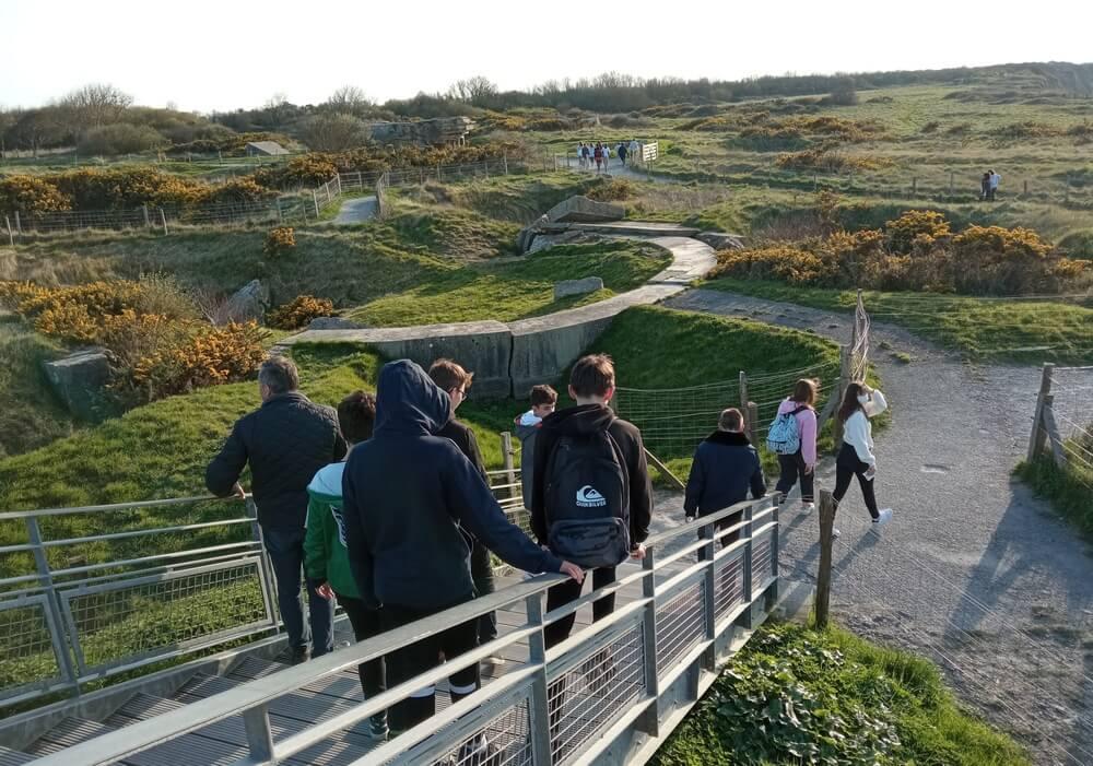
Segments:
[[[376,398],[364,391],[353,391],[338,404],[338,426],[353,446],[372,437],[376,422]],[[348,457],[348,456],[346,456]],[[307,485],[307,537],[304,540],[304,568],[316,592],[325,599],[338,599],[345,610],[356,640],[380,633],[379,611],[365,606],[350,568],[342,522],[342,472],[345,461],[319,469]],[[364,698],[375,697],[387,688],[384,659],[363,662],[357,667]],[[372,717],[372,735],[387,736],[387,714]]]

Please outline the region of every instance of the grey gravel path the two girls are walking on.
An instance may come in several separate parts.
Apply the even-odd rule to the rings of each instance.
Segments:
[[[715,291],[667,305],[812,329],[843,343],[851,327],[846,314]],[[1013,731],[1037,763],[1093,764],[1093,561],[1047,504],[1010,476],[1027,448],[1039,370],[971,365],[875,322],[870,356],[892,415],[877,437],[877,494],[895,516],[874,530],[851,486],[836,518],[836,617],[931,657],[961,697]],[[834,486],[833,461],[818,479]],[[783,571],[809,579],[818,514],[801,514],[797,503],[786,508]]]

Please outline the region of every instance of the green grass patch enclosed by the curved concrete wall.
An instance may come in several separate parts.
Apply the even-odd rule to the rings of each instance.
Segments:
[[[668,252],[650,245],[560,246],[517,262],[451,266],[433,271],[410,290],[373,300],[349,317],[377,327],[478,319],[512,321],[633,290],[670,262]],[[584,276],[602,278],[604,288],[555,300],[555,282]]]

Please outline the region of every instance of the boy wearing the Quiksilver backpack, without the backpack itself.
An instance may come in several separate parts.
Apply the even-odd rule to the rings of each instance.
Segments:
[[[614,396],[614,364],[607,354],[592,354],[577,360],[569,375],[569,396],[577,406],[548,415],[536,437],[534,474],[531,490],[531,531],[541,545],[550,540],[553,520],[546,508],[548,464],[554,446],[566,435],[607,431],[618,444],[628,478],[631,556],[645,557],[646,538],[653,520],[653,485],[645,461],[642,433],[631,423],[614,416],[608,402]],[[592,571],[592,588],[602,588],[615,581],[614,567],[600,567]],[[546,611],[564,606],[580,598],[580,582],[563,582],[546,594]],[[600,620],[614,611],[614,594],[592,603],[592,620]],[[569,636],[576,614],[562,617],[545,629],[546,647],[561,644]]]

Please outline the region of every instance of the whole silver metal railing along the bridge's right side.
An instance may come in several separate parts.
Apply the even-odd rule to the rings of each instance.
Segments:
[[[730,526],[718,529],[721,522]],[[544,609],[546,591],[563,578],[540,575],[35,763],[113,764],[236,717],[243,719],[249,751],[239,764],[283,763],[413,692],[505,649],[522,653],[522,659],[509,662],[503,675],[475,693],[354,763],[449,763],[453,756],[458,759],[457,754],[469,742],[478,743],[482,736],[500,749],[490,763],[644,761],[649,747],[682,718],[680,710],[693,705],[713,683],[718,662],[747,637],[740,629],[752,626],[754,606],[762,601],[768,609],[776,599],[778,534],[774,497],[742,503],[655,535],[647,541],[648,553],[640,568],[620,567],[616,582],[552,612]],[[728,542],[716,550],[719,541]],[[545,626],[602,596],[625,594],[635,587],[640,590],[637,598],[552,649],[545,648]],[[498,638],[448,657],[443,664],[296,733],[274,739],[269,708],[279,698],[486,612],[512,606],[524,617]]]

